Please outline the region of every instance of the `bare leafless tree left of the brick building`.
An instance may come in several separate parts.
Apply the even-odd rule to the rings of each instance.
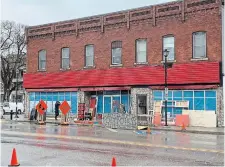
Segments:
[[[4,87],[3,100],[9,96],[16,86],[12,80],[16,70],[25,65],[26,42],[25,26],[10,21],[1,22],[1,80]]]

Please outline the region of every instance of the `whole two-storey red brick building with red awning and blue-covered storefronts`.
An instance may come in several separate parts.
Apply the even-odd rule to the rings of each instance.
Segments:
[[[29,110],[40,99],[53,112],[56,100],[97,99],[96,112],[115,101],[145,114],[164,100],[164,56],[171,120],[183,109],[209,111],[223,125],[221,0],[184,0],[27,28]],[[188,101],[188,108],[174,102]],[[140,105],[142,104],[142,105]]]

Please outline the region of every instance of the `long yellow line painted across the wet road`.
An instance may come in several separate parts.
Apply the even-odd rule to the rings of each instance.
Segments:
[[[144,147],[156,147],[156,148],[169,148],[175,150],[188,150],[188,151],[199,151],[199,152],[211,152],[224,154],[224,150],[210,150],[203,148],[187,148],[187,147],[176,147],[168,145],[157,145],[143,142],[132,142],[132,141],[120,141],[120,140],[109,140],[109,139],[98,139],[92,137],[78,137],[78,136],[63,136],[63,135],[52,135],[52,134],[40,134],[40,133],[27,133],[27,132],[12,132],[12,131],[1,131],[1,134],[11,135],[22,135],[22,136],[33,136],[33,137],[46,137],[46,138],[59,138],[59,139],[72,139],[88,142],[101,142],[101,143],[113,143],[113,144],[125,144],[132,146],[144,146]]]

